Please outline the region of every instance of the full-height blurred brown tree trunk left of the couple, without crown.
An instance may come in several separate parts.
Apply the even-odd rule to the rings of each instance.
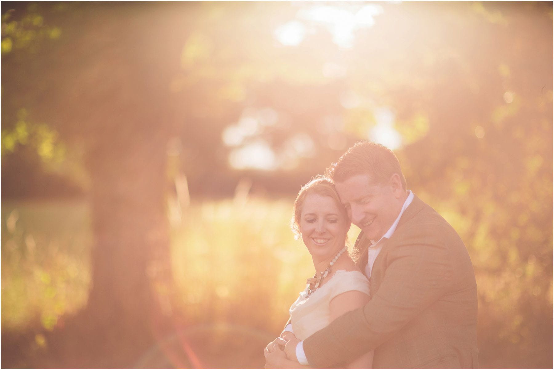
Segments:
[[[85,161],[94,233],[93,286],[84,314],[92,343],[99,345],[92,353],[106,357],[109,367],[134,366],[170,330],[166,146],[177,109],[168,86],[182,40],[166,39],[170,22],[145,34],[149,16],[107,7],[92,18],[99,26],[112,20],[101,43],[94,40],[98,35],[86,35],[101,58],[78,74],[85,109],[76,113],[90,134]]]

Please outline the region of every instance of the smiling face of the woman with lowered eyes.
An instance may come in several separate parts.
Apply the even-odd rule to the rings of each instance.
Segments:
[[[350,223],[333,198],[307,194],[300,214],[302,241],[317,259],[333,258],[345,245]]]

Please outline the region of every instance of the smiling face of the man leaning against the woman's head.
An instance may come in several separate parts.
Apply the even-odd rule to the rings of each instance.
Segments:
[[[406,191],[398,175],[381,184],[373,181],[369,174],[358,174],[335,182],[335,187],[352,223],[375,241],[391,228],[406,200]]]

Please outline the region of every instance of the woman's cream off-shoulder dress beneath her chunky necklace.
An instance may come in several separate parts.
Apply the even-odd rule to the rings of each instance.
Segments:
[[[331,323],[329,303],[337,295],[352,290],[370,295],[370,283],[360,271],[337,270],[329,281],[306,298],[308,289],[306,285],[289,310],[294,335],[301,341]]]

